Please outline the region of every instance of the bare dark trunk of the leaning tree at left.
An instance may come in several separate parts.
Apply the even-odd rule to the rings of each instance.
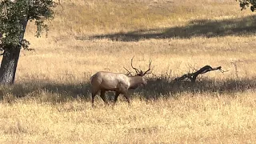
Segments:
[[[20,46],[5,50],[0,67],[0,83],[14,83],[20,50]]]

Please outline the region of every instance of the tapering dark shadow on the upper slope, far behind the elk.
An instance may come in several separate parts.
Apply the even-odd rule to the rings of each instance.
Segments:
[[[194,20],[186,26],[175,26],[162,29],[136,30],[128,33],[102,34],[90,37],[109,38],[112,41],[139,41],[141,39],[150,38],[191,38],[191,37],[222,37],[227,35],[245,35],[255,34],[256,16],[247,16],[245,18],[233,18],[224,20]],[[78,37],[83,40],[85,38]]]

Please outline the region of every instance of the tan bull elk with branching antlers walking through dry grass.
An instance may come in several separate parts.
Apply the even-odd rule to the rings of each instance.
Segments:
[[[143,72],[142,70],[138,70],[133,66],[133,59],[131,59],[131,67],[135,70],[136,75],[129,76],[129,74],[122,74],[122,73],[112,73],[106,71],[98,71],[90,78],[91,84],[91,94],[92,94],[92,106],[94,106],[94,97],[98,94],[98,91],[101,91],[100,97],[108,105],[108,102],[105,98],[106,91],[115,91],[114,95],[114,103],[117,102],[118,96],[123,94],[126,98],[127,102],[130,104],[128,90],[136,89],[138,86],[145,86],[146,79],[144,76],[146,74],[150,74],[150,66],[151,60],[149,64],[149,69]],[[128,70],[127,70],[128,71]],[[130,73],[130,71],[128,71]],[[130,73],[131,74],[131,73]]]

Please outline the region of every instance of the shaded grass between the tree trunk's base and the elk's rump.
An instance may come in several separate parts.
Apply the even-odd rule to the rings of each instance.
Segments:
[[[54,103],[66,102],[76,98],[88,101],[90,82],[55,83],[36,80],[0,87],[0,99],[10,95],[14,98],[43,98],[43,101],[53,101]]]

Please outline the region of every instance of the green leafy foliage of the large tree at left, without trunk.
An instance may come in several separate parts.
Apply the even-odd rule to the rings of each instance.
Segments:
[[[53,8],[57,3],[53,0],[2,0],[0,4],[0,46],[6,49],[22,46],[28,49],[30,44],[23,39],[26,22],[34,21],[37,26],[36,36],[43,30],[48,31],[46,20],[54,18]]]

